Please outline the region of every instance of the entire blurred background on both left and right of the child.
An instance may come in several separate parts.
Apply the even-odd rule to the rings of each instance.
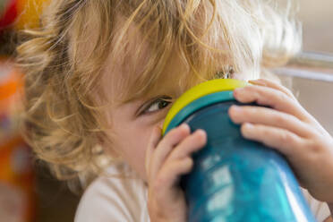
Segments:
[[[0,222],[73,221],[80,195],[34,161],[17,130],[21,76],[13,68],[12,33],[37,27],[47,0],[0,0]],[[333,1],[300,0],[303,54],[275,72],[333,134]]]

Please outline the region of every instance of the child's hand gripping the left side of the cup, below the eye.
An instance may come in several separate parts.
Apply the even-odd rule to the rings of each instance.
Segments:
[[[166,133],[163,139],[159,128],[152,132],[146,151],[151,222],[186,221],[187,208],[179,178],[192,170],[191,154],[203,148],[206,140],[206,132],[197,130],[191,134],[187,124]]]

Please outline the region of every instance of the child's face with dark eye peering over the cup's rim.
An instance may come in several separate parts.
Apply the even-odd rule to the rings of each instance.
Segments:
[[[128,90],[121,86],[122,78],[132,80],[137,74],[124,74],[126,67],[114,69],[112,72],[105,72],[106,79],[102,80],[107,97],[111,101],[115,101],[124,90]],[[173,73],[180,72],[182,72],[182,65],[179,59],[172,59],[167,64],[166,71],[163,73],[166,78],[161,80],[163,84],[157,92],[148,98],[138,98],[124,104],[115,103],[115,106],[109,108],[108,117],[111,127],[108,135],[113,142],[112,149],[120,154],[145,181],[145,154],[149,137],[155,126],[162,127],[166,113],[171,107],[170,103],[182,93],[176,89],[177,84],[172,82]]]

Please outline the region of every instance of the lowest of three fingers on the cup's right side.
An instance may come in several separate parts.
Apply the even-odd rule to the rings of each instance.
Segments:
[[[295,133],[272,126],[245,123],[241,126],[241,132],[244,138],[260,141],[285,154],[287,158],[299,156],[305,147],[305,140]]]

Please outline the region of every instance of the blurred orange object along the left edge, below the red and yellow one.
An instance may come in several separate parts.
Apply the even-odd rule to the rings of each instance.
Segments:
[[[32,154],[18,129],[22,75],[0,58],[0,218],[32,222],[36,199]]]

